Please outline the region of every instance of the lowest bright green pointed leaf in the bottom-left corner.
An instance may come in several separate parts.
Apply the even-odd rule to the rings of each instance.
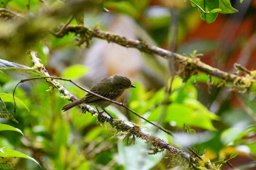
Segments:
[[[8,157],[18,157],[18,158],[26,158],[29,159],[31,161],[34,161],[37,163],[37,165],[40,166],[40,164],[37,162],[37,160],[35,160],[34,158],[27,156],[24,153],[20,153],[18,151],[15,150],[11,150],[11,149],[6,149],[4,147],[0,148],[0,156],[4,157],[4,158],[8,158]],[[41,167],[41,166],[40,166]]]

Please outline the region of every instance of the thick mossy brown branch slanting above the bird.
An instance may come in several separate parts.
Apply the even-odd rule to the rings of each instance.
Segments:
[[[198,71],[204,72],[210,76],[215,76],[223,81],[227,82],[228,87],[232,88],[242,88],[250,91],[255,91],[254,88],[250,88],[256,85],[256,80],[247,76],[237,76],[228,72],[219,70],[218,68],[213,68],[200,61],[199,58],[189,58],[165,49],[150,45],[144,41],[138,41],[133,39],[128,39],[122,35],[114,34],[110,32],[101,31],[100,29],[91,29],[87,26],[67,26],[64,30],[64,34],[69,32],[80,34],[81,36],[87,37],[89,40],[93,37],[106,40],[108,42],[114,42],[121,46],[128,48],[136,48],[139,51],[146,52],[149,54],[159,55],[165,59],[174,58],[174,60],[183,64],[185,68],[188,68],[187,73],[189,76],[196,74]]]

